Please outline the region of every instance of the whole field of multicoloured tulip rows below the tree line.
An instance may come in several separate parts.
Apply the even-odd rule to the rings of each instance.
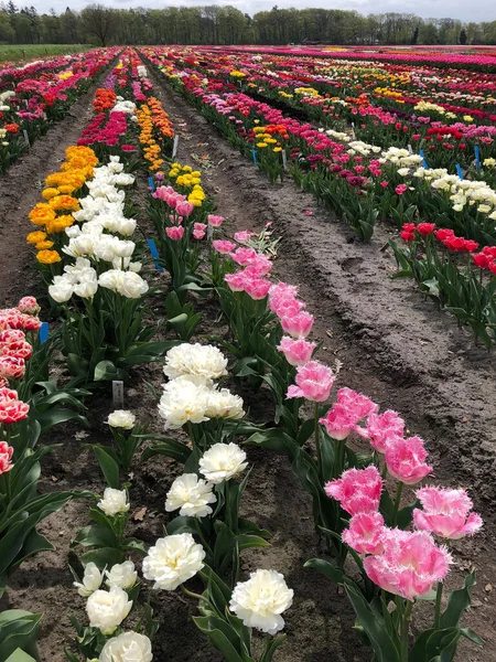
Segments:
[[[496,661],[496,77],[362,56],[0,72],[0,662]]]

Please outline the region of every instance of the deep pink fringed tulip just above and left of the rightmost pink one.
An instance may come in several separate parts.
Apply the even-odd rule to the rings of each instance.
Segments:
[[[397,480],[413,485],[432,471],[425,465],[428,452],[420,437],[391,437],[386,445],[386,465]]]

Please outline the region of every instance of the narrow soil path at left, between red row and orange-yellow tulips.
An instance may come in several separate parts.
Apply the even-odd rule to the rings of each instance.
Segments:
[[[36,260],[25,241],[25,235],[33,229],[28,214],[36,203],[43,201],[41,190],[45,177],[58,170],[65,149],[77,142],[91,118],[95,90],[110,70],[111,65],[73,104],[69,114],[54,124],[0,177],[0,241],[4,256],[1,307],[12,306],[29,293],[46,296],[39,273],[32,268]]]

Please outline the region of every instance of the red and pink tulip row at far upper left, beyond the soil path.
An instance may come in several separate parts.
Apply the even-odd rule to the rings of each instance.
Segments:
[[[99,49],[0,72],[0,174],[69,113],[118,51]]]

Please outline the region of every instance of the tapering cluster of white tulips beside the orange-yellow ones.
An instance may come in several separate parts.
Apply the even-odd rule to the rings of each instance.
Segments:
[[[93,180],[87,182],[89,195],[79,201],[82,209],[73,214],[82,225],[66,228],[69,241],[62,248],[76,263],[64,267],[64,274],[48,287],[50,296],[58,303],[73,295],[91,298],[98,286],[129,299],[148,291],[147,281],[138,275],[141,264],[131,261],[134,242],[111,234],[129,237],[137,225],[134,218],[125,216],[126,193],[119,190],[132,184],[134,178],[122,171],[119,157],[110,157],[107,166],[95,168]],[[109,263],[111,268],[101,274],[101,263]],[[93,264],[99,264],[99,277]]]

